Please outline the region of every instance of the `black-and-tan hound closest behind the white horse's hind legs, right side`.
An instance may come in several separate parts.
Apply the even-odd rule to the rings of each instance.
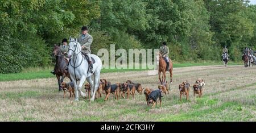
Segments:
[[[105,101],[107,99],[109,99],[109,95],[111,93],[113,93],[115,95],[115,99],[118,100],[118,97],[119,97],[119,91],[120,91],[120,88],[119,88],[119,85],[117,84],[111,84],[110,82],[106,82],[106,85],[105,85],[105,88],[104,88],[105,92],[106,92],[106,97],[105,97]]]

